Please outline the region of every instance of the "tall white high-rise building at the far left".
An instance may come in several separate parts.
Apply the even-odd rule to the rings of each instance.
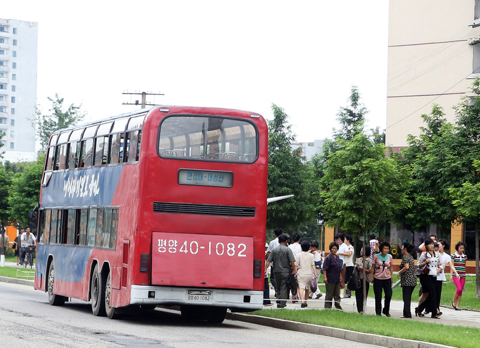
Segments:
[[[35,160],[38,23],[0,19],[2,161]]]

